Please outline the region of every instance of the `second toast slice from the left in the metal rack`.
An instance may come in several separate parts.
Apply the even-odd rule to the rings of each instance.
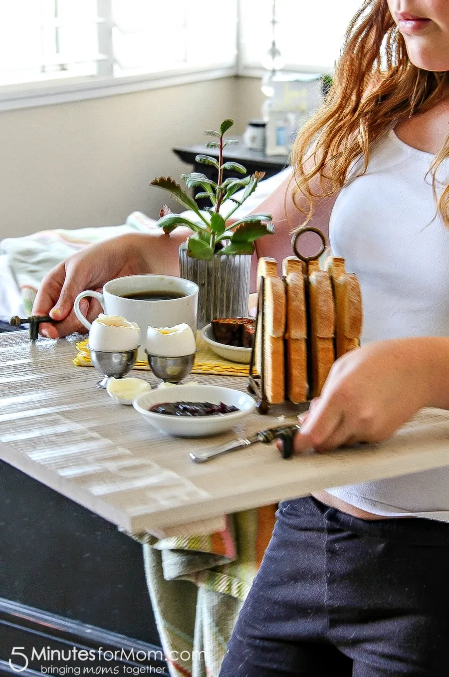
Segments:
[[[282,262],[282,271],[286,272],[288,266],[284,263],[285,259]],[[288,272],[285,289],[286,394],[292,402],[299,403],[307,399],[307,315],[302,272]]]

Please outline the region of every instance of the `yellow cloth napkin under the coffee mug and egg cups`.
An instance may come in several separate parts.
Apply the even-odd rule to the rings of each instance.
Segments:
[[[78,355],[74,358],[73,364],[80,367],[91,367],[89,348],[87,347],[87,339],[77,343]],[[150,371],[148,362],[136,362],[134,369],[142,369]],[[202,339],[198,332],[196,336],[196,356],[195,363],[192,369],[192,374],[223,374],[223,376],[248,376],[249,364],[238,364],[238,362],[230,362],[224,357],[215,355],[209,348],[209,345]]]

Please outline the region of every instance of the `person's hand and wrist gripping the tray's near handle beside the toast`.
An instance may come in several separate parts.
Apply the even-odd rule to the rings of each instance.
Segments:
[[[340,357],[304,417],[295,451],[381,441],[431,406],[431,341],[379,341]]]

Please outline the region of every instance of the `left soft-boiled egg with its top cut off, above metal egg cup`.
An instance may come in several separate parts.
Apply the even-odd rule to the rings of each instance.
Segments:
[[[140,327],[120,315],[100,313],[89,329],[89,348],[106,353],[134,350],[139,345]]]

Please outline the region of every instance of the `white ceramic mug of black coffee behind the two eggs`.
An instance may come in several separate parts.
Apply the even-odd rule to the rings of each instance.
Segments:
[[[164,301],[125,299],[127,294],[140,292],[173,292],[184,296],[179,299]],[[74,300],[74,313],[86,329],[91,323],[81,313],[79,302],[85,297],[97,299],[105,315],[121,315],[129,322],[140,326],[141,336],[146,336],[146,328],[172,327],[186,322],[192,327],[196,336],[196,315],[198,313],[198,285],[184,278],[173,278],[167,275],[130,275],[106,282],[103,292],[87,290],[78,294]],[[146,361],[145,341],[139,349],[137,359]]]

